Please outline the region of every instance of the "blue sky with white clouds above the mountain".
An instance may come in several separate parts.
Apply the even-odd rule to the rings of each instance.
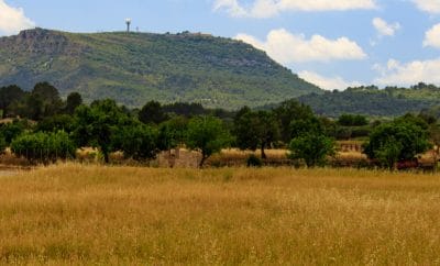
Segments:
[[[440,85],[440,0],[0,0],[0,35],[212,33],[239,38],[323,89]]]

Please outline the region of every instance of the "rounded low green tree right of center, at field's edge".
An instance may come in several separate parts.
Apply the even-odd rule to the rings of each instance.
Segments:
[[[304,133],[289,144],[288,157],[304,159],[307,167],[323,166],[327,157],[332,155],[334,155],[334,141],[321,133]]]

